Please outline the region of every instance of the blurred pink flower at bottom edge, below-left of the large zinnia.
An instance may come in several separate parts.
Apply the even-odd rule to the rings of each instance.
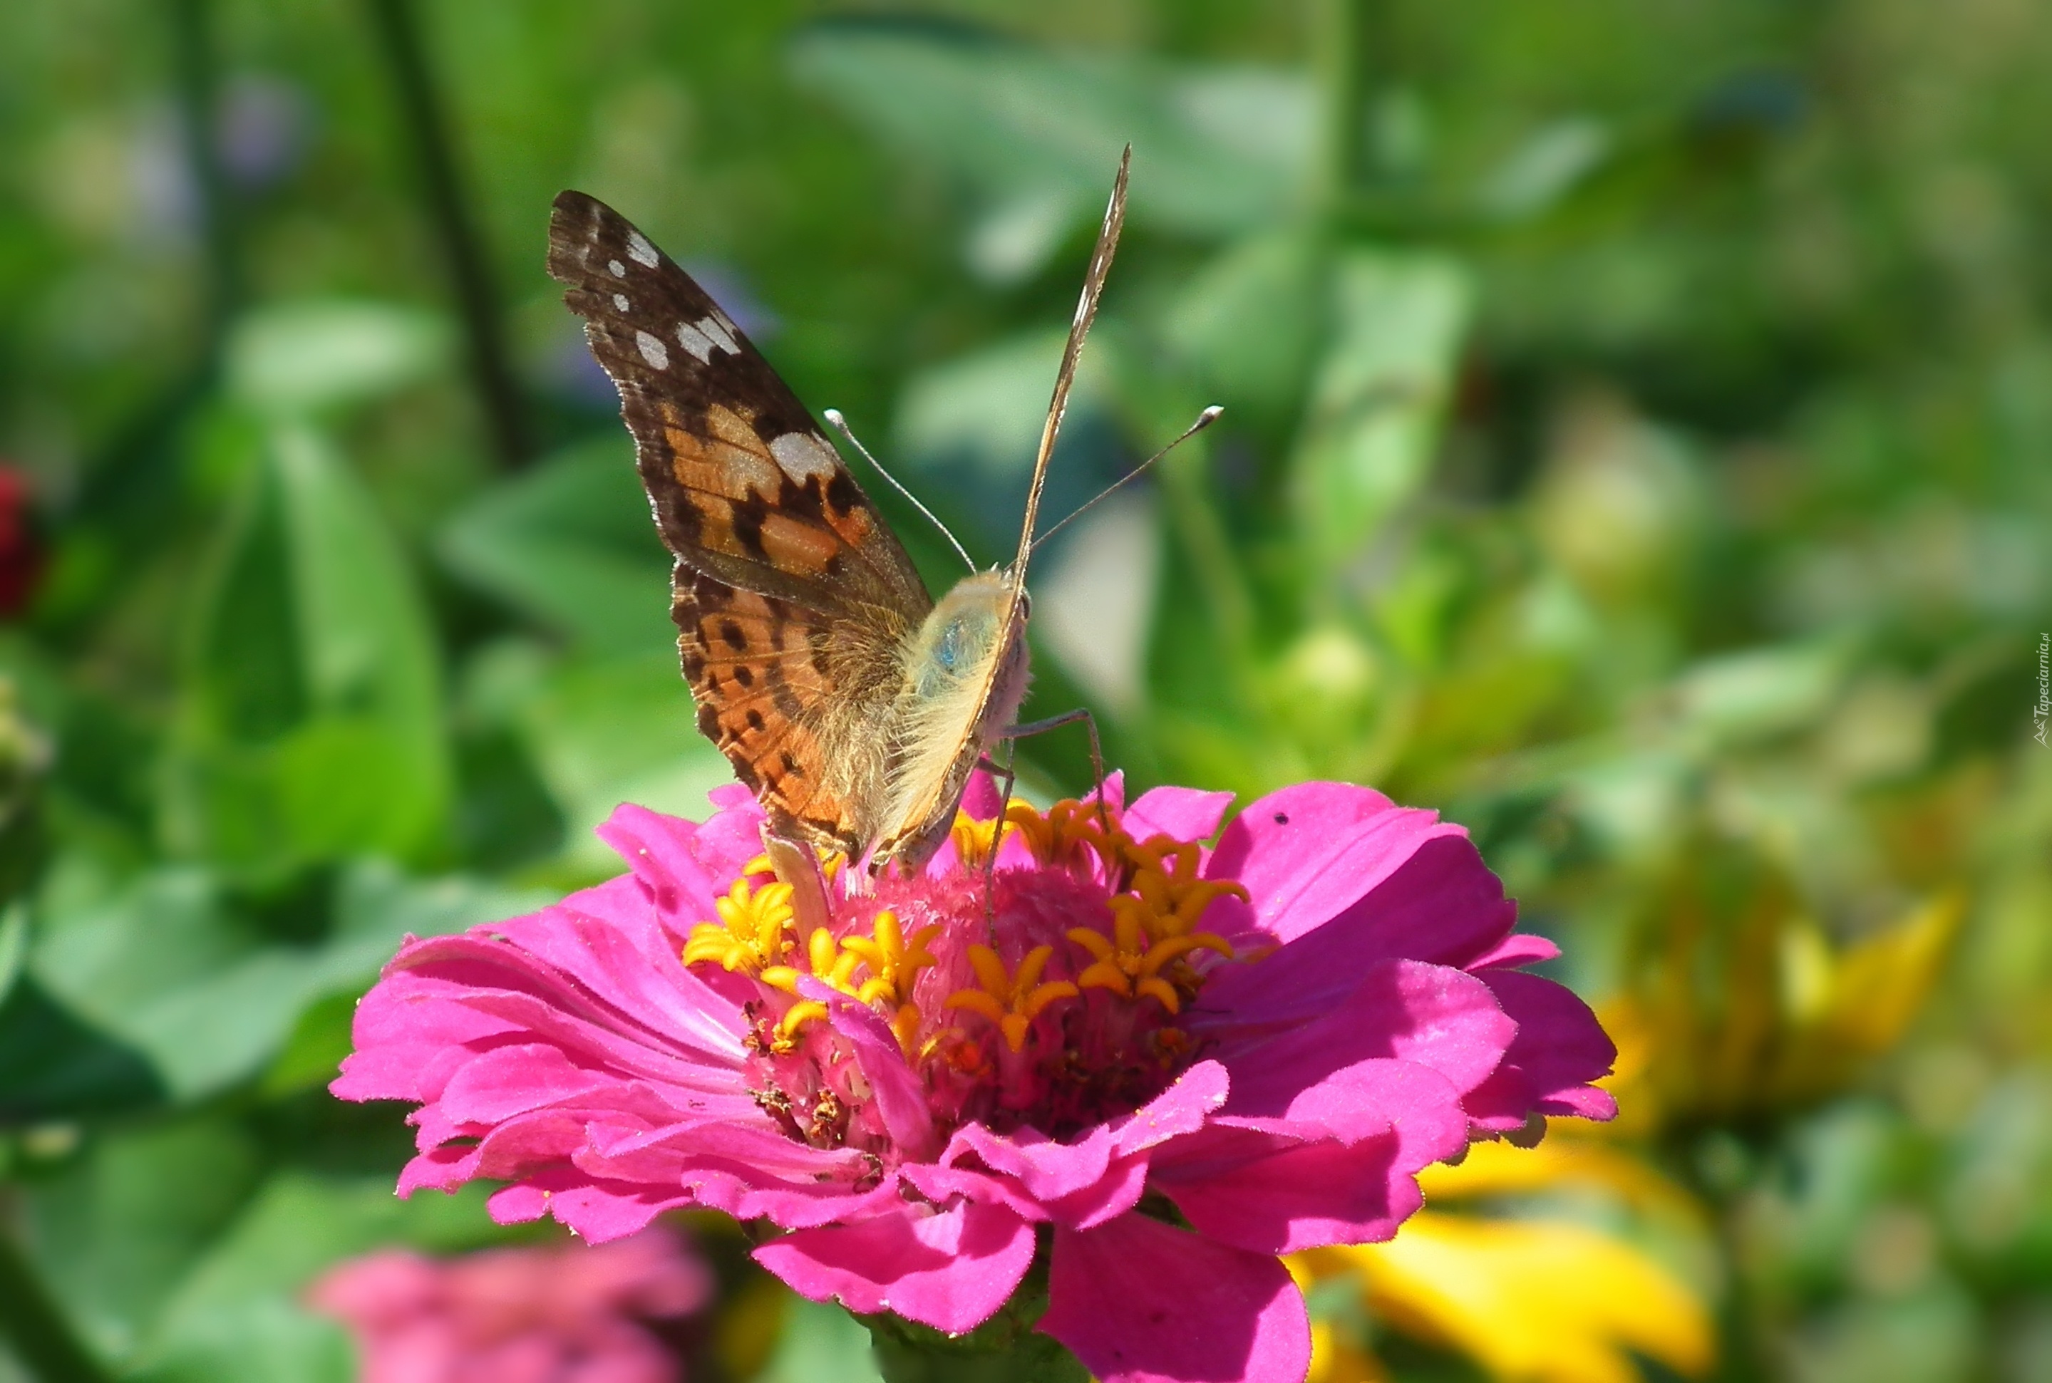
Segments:
[[[675,1383],[648,1323],[710,1297],[712,1274],[663,1231],[447,1260],[384,1250],[308,1291],[357,1338],[361,1383]]]

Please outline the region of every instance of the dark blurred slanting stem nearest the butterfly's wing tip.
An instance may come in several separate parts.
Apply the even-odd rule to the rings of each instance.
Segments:
[[[484,410],[484,427],[499,451],[499,464],[517,470],[529,460],[525,406],[507,359],[484,242],[464,197],[449,127],[429,72],[421,29],[415,23],[412,0],[367,0],[367,4],[371,27],[378,31],[378,47],[392,72],[392,88],[412,144],[429,220],[449,267],[449,285],[456,291],[456,308],[470,345],[470,378],[478,392],[478,406]]]

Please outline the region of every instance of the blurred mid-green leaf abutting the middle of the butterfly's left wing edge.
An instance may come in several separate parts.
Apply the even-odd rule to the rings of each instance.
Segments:
[[[624,435],[575,447],[458,513],[435,544],[458,577],[595,653],[669,648],[669,554]]]

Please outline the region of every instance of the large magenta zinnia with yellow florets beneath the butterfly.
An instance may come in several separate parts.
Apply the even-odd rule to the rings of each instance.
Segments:
[[[987,784],[925,870],[800,895],[745,790],[622,806],[630,874],[408,942],[334,1094],[421,1106],[402,1192],[501,1178],[492,1215],[593,1241],[765,1219],[798,1293],[950,1334],[1038,1231],[1038,1330],[1106,1383],[1297,1383],[1276,1256],[1387,1239],[1471,1137],[1607,1118],[1613,1049],[1432,813],[1305,784],[1207,849],[1229,794],[1106,796],[1014,802],[989,899]]]

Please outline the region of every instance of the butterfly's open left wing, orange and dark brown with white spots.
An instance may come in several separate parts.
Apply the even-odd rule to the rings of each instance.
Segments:
[[[911,558],[804,404],[620,213],[556,197],[548,269],[620,388],[677,556],[700,730],[778,831],[860,854],[882,829],[899,650],[932,609]]]

